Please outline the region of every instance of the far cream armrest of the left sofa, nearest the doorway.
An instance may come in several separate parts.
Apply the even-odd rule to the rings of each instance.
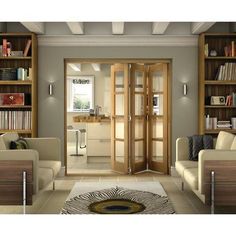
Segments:
[[[59,138],[26,138],[30,149],[37,150],[40,160],[61,161]]]

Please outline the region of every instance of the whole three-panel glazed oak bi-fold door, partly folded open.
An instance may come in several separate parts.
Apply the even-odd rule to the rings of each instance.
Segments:
[[[167,173],[167,65],[111,67],[112,169]]]

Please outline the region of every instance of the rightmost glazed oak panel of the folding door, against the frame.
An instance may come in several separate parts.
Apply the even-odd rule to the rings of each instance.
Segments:
[[[149,66],[148,71],[148,166],[168,172],[168,83],[167,64]]]

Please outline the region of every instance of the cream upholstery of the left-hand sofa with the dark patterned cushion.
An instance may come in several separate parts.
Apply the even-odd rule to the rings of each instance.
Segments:
[[[61,144],[58,138],[25,138],[30,149],[10,150],[10,142],[19,138],[17,133],[0,135],[0,160],[33,161],[33,194],[49,185],[61,168]]]

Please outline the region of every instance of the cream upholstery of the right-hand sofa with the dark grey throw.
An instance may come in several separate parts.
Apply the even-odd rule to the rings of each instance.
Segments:
[[[198,161],[189,160],[188,138],[176,140],[175,168],[192,191],[205,203],[204,195],[204,161],[206,160],[236,160],[236,136],[220,131],[214,140],[214,149],[201,150]]]

